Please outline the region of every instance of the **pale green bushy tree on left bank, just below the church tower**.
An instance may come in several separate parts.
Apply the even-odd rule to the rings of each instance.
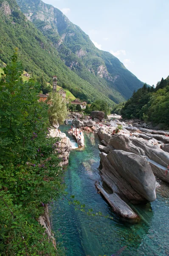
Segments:
[[[62,96],[60,96],[59,93],[50,93],[48,96],[48,104],[50,124],[62,124],[68,115],[66,103],[62,100]]]

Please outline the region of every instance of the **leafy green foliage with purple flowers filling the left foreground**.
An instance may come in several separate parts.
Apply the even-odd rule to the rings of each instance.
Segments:
[[[62,194],[57,140],[48,137],[48,105],[22,81],[17,52],[0,79],[0,255],[56,256],[38,218]]]

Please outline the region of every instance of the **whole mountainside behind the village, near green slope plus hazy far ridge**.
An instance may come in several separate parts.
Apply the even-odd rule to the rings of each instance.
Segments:
[[[40,0],[17,3],[0,0],[2,61],[7,63],[18,47],[26,72],[45,81],[57,75],[58,84],[82,100],[104,99],[112,105],[142,87],[118,58],[97,49],[59,9]]]

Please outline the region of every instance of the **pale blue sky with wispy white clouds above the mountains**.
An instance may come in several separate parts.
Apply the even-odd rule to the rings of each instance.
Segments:
[[[44,0],[111,52],[141,81],[169,75],[168,0]]]

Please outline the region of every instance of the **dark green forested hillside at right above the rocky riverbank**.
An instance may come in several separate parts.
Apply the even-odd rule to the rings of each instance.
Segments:
[[[124,106],[116,105],[113,112],[121,113],[123,118],[142,119],[169,128],[169,77],[162,78],[156,87],[144,84]]]

